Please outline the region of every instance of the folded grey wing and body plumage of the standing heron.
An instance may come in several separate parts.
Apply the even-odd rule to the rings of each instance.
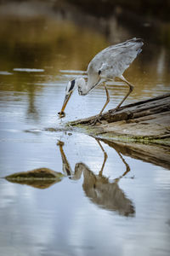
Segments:
[[[139,55],[142,45],[141,39],[133,38],[103,49],[89,63],[88,77],[99,73],[105,78],[115,78],[122,75],[136,56]]]

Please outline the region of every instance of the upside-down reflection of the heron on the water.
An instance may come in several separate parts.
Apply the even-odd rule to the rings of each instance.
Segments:
[[[99,140],[96,139],[99,143]],[[105,209],[116,211],[121,215],[124,216],[133,216],[134,214],[134,207],[132,201],[130,201],[122,189],[119,188],[118,182],[122,177],[124,177],[127,172],[130,171],[129,166],[127,165],[126,161],[122,158],[122,155],[119,154],[123,163],[126,166],[126,172],[122,174],[122,176],[117,177],[113,182],[109,180],[108,177],[103,176],[103,170],[105,167],[105,162],[107,160],[107,154],[105,153],[104,148],[102,147],[101,143],[99,143],[99,147],[104,152],[104,161],[99,172],[99,175],[95,175],[88,166],[83,163],[77,163],[75,166],[75,172],[71,171],[71,166],[69,165],[65,153],[63,150],[64,143],[58,143],[62,161],[63,161],[63,172],[71,177],[71,179],[77,180],[81,177],[83,173],[83,184],[82,188],[85,191],[85,194],[97,204],[99,207],[103,207]]]

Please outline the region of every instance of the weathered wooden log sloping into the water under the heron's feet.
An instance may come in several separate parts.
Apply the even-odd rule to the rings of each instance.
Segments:
[[[70,125],[83,125],[91,135],[158,140],[170,144],[170,94],[123,106],[119,111],[103,113],[102,124],[90,127],[96,116],[79,119]]]

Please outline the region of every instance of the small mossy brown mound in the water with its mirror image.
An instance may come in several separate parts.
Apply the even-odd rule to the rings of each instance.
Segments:
[[[48,168],[38,168],[30,172],[16,172],[5,177],[9,182],[30,185],[37,189],[47,189],[61,181],[64,175]]]

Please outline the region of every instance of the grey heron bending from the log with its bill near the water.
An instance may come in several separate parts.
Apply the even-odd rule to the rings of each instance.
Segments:
[[[77,78],[73,79],[67,84],[65,88],[65,99],[61,111],[59,112],[59,117],[62,118],[65,116],[64,110],[66,104],[69,101],[72,92],[76,88],[79,95],[85,96],[96,86],[103,83],[106,93],[106,102],[99,112],[99,115],[95,119],[94,124],[97,121],[100,122],[99,118],[101,113],[103,113],[105,107],[110,102],[110,96],[105,82],[108,80],[114,81],[115,78],[121,79],[129,87],[127,95],[122,99],[122,102],[124,102],[127,96],[129,96],[129,94],[133,91],[133,84],[130,84],[122,74],[137,57],[137,55],[139,55],[139,53],[142,51],[142,46],[143,42],[141,38],[132,38],[126,42],[111,45],[95,55],[93,60],[88,64],[88,81],[86,82],[83,78]],[[116,106],[115,110],[121,107],[122,102]]]

